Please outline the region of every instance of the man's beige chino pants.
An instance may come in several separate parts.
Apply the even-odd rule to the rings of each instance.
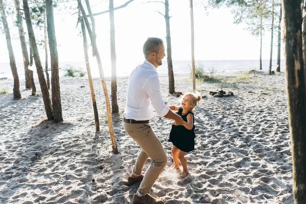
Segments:
[[[148,123],[123,123],[127,135],[133,138],[141,147],[132,174],[139,176],[146,160],[148,158],[152,160],[138,189],[140,194],[145,195],[151,190],[164,166],[167,164],[167,155],[161,141],[155,135],[152,127]]]

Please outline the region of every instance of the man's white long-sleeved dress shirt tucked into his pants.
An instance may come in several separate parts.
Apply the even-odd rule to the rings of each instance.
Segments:
[[[132,71],[123,112],[126,119],[152,119],[154,109],[160,116],[168,113],[170,109],[164,103],[158,77],[156,67],[147,60]]]

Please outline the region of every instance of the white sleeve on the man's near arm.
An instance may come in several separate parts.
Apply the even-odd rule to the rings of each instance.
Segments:
[[[156,110],[156,112],[164,117],[169,112],[169,107],[165,105],[163,96],[160,90],[160,82],[157,76],[152,75],[143,85],[143,89],[148,94],[152,106]]]

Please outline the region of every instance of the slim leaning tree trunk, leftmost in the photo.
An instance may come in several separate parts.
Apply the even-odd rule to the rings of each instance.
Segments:
[[[12,70],[12,74],[14,78],[13,94],[14,94],[14,98],[21,98],[21,94],[19,90],[19,78],[18,78],[18,73],[17,73],[16,61],[15,61],[14,51],[13,51],[12,42],[11,42],[11,34],[9,30],[9,25],[8,25],[7,18],[5,15],[3,0],[0,0],[0,13],[1,13],[1,19],[3,23],[5,36],[6,36],[7,47],[9,51],[10,66],[11,66],[11,70]]]

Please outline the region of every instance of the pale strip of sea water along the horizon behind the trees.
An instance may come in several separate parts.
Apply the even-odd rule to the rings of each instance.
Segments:
[[[117,61],[117,76],[124,77],[129,76],[131,71],[140,64],[141,61],[135,63],[131,62],[120,62]],[[284,71],[284,63],[285,61],[281,61],[281,71]],[[173,61],[173,73],[176,74],[191,74],[191,61]],[[233,72],[233,71],[244,71],[244,70],[251,70],[256,69],[259,70],[259,60],[196,60],[196,66],[200,65],[205,72],[214,72],[217,74],[218,72]],[[24,80],[24,67],[23,63],[16,63],[17,72],[19,80]],[[86,64],[85,62],[59,62],[59,75],[60,77],[64,77],[65,69],[69,67],[73,67],[76,69],[81,69],[86,71]],[[110,63],[103,63],[103,72],[105,77],[111,76],[111,64]],[[50,69],[50,65],[48,65]],[[268,71],[269,69],[269,60],[262,61],[263,71]],[[35,70],[35,64],[31,67]],[[44,69],[44,66],[43,66]],[[272,61],[272,70],[276,69],[276,60]],[[90,64],[91,75],[93,78],[99,77],[99,70],[96,63]],[[167,75],[168,74],[168,65],[167,59],[163,60],[163,64],[158,67],[157,69],[160,75]],[[51,71],[48,71],[51,74]],[[87,77],[87,74],[85,75]],[[0,79],[1,78],[8,78],[13,79],[11,67],[9,63],[0,63]],[[34,78],[38,78],[37,73],[35,71]]]

